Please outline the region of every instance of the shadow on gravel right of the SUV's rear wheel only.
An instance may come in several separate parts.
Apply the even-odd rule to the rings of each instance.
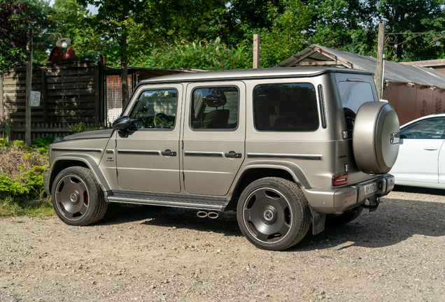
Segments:
[[[418,187],[396,187],[397,192],[435,195],[442,198],[445,190]],[[318,235],[309,230],[306,237],[286,252],[323,250],[335,247],[344,250],[351,246],[386,247],[400,243],[414,235],[445,236],[444,203],[383,199],[381,206],[372,213],[364,210],[357,220],[340,227],[326,227]],[[344,247],[336,246],[351,243]]]

